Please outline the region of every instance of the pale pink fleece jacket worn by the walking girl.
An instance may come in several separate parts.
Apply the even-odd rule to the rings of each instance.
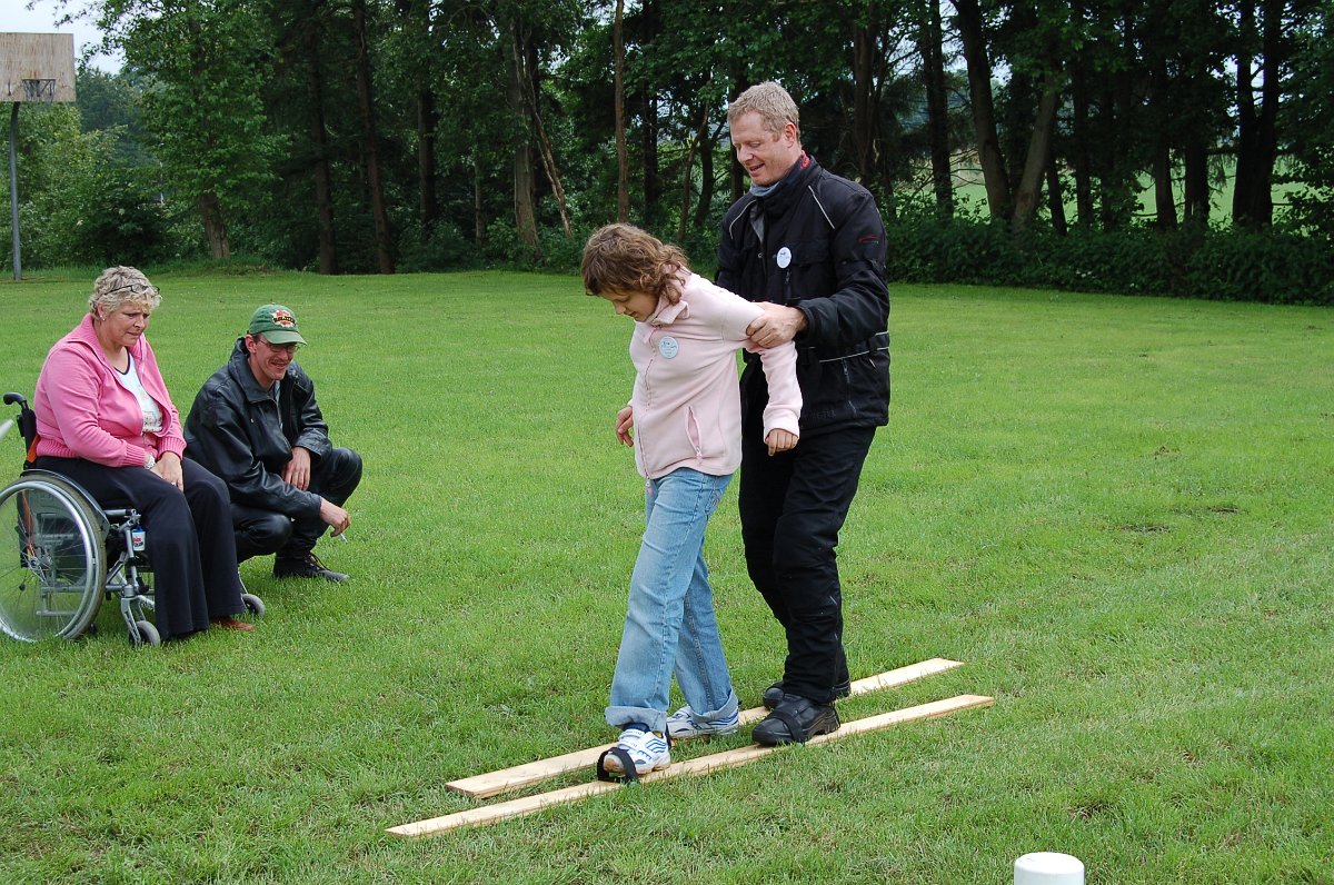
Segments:
[[[675,304],[666,300],[647,322],[635,323],[630,359],[635,391],[635,465],[648,479],[678,467],[724,477],[742,463],[742,404],[736,351],[759,354],[768,380],[764,434],[799,432],[802,391],[796,386],[796,348],[756,350],[746,327],[763,311],[758,304],[691,274]]]

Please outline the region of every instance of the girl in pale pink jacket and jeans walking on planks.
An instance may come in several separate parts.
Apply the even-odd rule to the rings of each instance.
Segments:
[[[758,304],[692,274],[686,255],[630,224],[596,231],[584,247],[590,295],[635,320],[635,387],[616,415],[616,438],[635,449],[646,479],[643,543],[607,723],[622,729],[599,768],[628,778],[671,764],[668,741],[731,734],[739,702],[723,655],[704,529],[740,465],[736,351]],[[796,445],[802,394],[791,343],[758,351],[768,380],[770,454]],[[686,706],[667,715],[672,675]]]

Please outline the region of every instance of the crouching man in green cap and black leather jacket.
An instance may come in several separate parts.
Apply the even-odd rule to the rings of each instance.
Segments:
[[[342,535],[352,523],[343,505],[362,481],[362,457],[329,442],[315,383],[292,359],[303,344],[291,310],[257,308],[195,396],[185,453],[231,491],[237,562],[276,553],[277,578],[347,581],[313,550],[325,526]]]

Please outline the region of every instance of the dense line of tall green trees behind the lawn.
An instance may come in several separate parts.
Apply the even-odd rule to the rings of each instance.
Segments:
[[[616,218],[703,256],[744,187],[727,100],[764,79],[798,99],[807,150],[891,224],[1178,231],[1222,208],[1245,231],[1334,232],[1322,0],[68,9],[125,65],[81,68],[81,127],[61,108],[24,117],[24,224],[52,228],[39,260],[92,260],[100,243],[99,260],[237,254],[325,274],[564,267]],[[960,200],[968,170],[980,206]],[[1301,186],[1289,212],[1278,186]]]

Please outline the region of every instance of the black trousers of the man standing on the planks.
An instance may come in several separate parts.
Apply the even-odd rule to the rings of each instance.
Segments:
[[[847,682],[843,591],[834,549],[875,427],[803,435],[770,457],[747,422],[739,505],[751,582],[787,633],[783,689],[831,703]]]

